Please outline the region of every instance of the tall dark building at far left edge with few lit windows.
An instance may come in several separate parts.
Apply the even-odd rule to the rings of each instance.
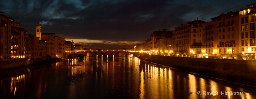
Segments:
[[[4,13],[4,12],[0,12]],[[12,17],[0,14],[1,61],[26,58],[26,36],[28,31],[20,28],[20,23]]]

